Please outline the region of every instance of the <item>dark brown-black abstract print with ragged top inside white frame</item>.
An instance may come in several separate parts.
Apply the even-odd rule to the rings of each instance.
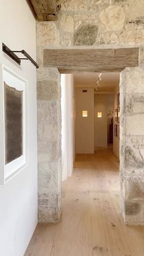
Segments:
[[[4,81],[5,164],[23,155],[23,90]]]

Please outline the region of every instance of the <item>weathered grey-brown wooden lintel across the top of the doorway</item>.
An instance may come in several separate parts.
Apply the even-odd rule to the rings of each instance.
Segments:
[[[60,73],[121,71],[139,65],[139,48],[44,49],[43,65]]]

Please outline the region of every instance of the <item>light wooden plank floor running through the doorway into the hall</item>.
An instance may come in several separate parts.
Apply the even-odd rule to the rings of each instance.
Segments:
[[[77,155],[59,224],[38,225],[24,256],[144,256],[144,227],[124,225],[112,148]]]

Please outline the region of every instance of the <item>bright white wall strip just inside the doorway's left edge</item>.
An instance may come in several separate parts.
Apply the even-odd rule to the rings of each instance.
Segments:
[[[62,181],[73,172],[73,75],[61,76]]]

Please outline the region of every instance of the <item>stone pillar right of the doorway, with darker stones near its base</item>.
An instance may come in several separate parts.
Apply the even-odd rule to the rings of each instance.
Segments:
[[[120,175],[124,222],[144,225],[144,68],[120,77]]]

